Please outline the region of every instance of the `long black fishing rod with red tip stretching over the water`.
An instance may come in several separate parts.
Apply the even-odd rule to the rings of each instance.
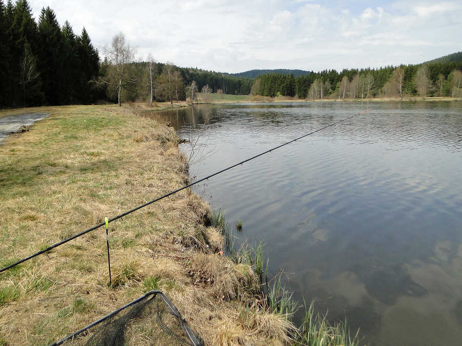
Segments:
[[[25,262],[25,261],[27,261],[27,260],[29,260],[29,259],[32,259],[32,258],[34,258],[34,257],[36,257],[36,256],[38,256],[38,255],[41,255],[41,254],[43,254],[43,253],[45,253],[45,252],[47,252],[47,251],[50,251],[50,250],[52,250],[52,249],[54,249],[54,248],[57,248],[57,247],[59,247],[59,246],[65,244],[66,242],[71,241],[71,240],[73,240],[73,239],[75,239],[75,238],[78,238],[78,237],[80,237],[80,236],[82,236],[82,235],[84,235],[84,234],[86,234],[86,233],[88,233],[88,232],[94,231],[94,230],[97,229],[97,228],[100,228],[100,227],[102,227],[102,226],[105,226],[105,225],[106,225],[106,222],[112,222],[112,221],[118,220],[118,219],[120,219],[120,218],[122,218],[122,217],[124,217],[124,216],[126,216],[126,215],[128,215],[128,214],[131,214],[131,213],[133,213],[133,212],[135,212],[135,211],[141,209],[141,208],[147,207],[147,206],[151,205],[152,203],[155,203],[155,202],[157,202],[157,201],[159,201],[159,200],[161,200],[161,199],[163,199],[163,198],[166,198],[166,197],[168,197],[168,196],[171,196],[171,195],[173,195],[173,194],[176,194],[177,192],[180,192],[180,191],[182,191],[182,190],[184,190],[184,189],[187,189],[187,188],[189,188],[189,187],[191,187],[191,186],[194,186],[194,185],[196,185],[196,184],[199,184],[199,182],[201,182],[201,181],[208,180],[209,178],[214,177],[214,176],[216,176],[216,175],[218,175],[218,174],[221,174],[221,173],[223,173],[223,172],[226,172],[226,171],[228,171],[228,170],[230,170],[230,169],[232,169],[232,168],[235,168],[236,166],[245,164],[245,162],[251,161],[251,160],[253,160],[253,159],[257,158],[257,157],[260,157],[260,156],[265,155],[265,154],[267,154],[267,153],[269,153],[269,152],[272,152],[273,150],[282,148],[282,147],[284,147],[284,146],[286,146],[286,145],[289,145],[289,144],[291,144],[291,143],[294,143],[295,141],[300,140],[300,139],[302,139],[302,138],[304,138],[304,137],[310,136],[310,135],[315,134],[315,133],[317,133],[317,132],[319,132],[319,131],[322,131],[322,130],[325,130],[325,129],[327,129],[327,128],[330,128],[330,127],[332,127],[332,126],[335,126],[335,125],[337,125],[337,124],[342,123],[343,121],[347,121],[347,120],[349,120],[349,119],[351,119],[351,118],[354,118],[355,116],[358,116],[359,114],[367,113],[367,112],[369,112],[369,111],[370,111],[370,109],[368,109],[367,111],[359,112],[359,113],[354,114],[354,115],[352,115],[352,116],[349,116],[349,117],[347,117],[347,118],[338,120],[338,121],[336,121],[335,123],[326,125],[326,126],[320,128],[320,129],[317,129],[317,130],[312,131],[312,132],[310,132],[310,133],[306,133],[306,134],[304,134],[304,135],[302,135],[302,136],[300,136],[300,137],[297,137],[297,138],[295,138],[295,139],[292,139],[292,140],[290,140],[290,141],[288,141],[288,142],[286,142],[286,143],[283,143],[283,144],[281,144],[281,145],[279,145],[279,146],[277,146],[277,147],[268,149],[268,150],[266,150],[266,151],[264,151],[264,152],[262,152],[262,153],[260,153],[260,154],[257,154],[257,155],[255,155],[255,156],[249,157],[249,158],[247,158],[247,159],[245,159],[245,160],[243,160],[243,161],[240,161],[240,162],[238,162],[237,164],[234,164],[234,165],[232,165],[232,166],[226,167],[226,168],[224,168],[224,169],[222,169],[222,170],[220,170],[220,171],[218,171],[218,172],[215,172],[215,173],[213,173],[213,174],[207,175],[206,177],[203,177],[203,178],[201,178],[201,179],[199,179],[199,180],[196,180],[196,181],[194,181],[194,182],[191,182],[190,184],[185,185],[185,186],[183,186],[183,187],[181,187],[181,188],[179,188],[179,189],[177,189],[177,190],[171,191],[171,192],[169,192],[169,193],[167,193],[167,194],[165,194],[165,195],[163,195],[163,196],[161,196],[161,197],[152,199],[151,201],[146,202],[146,203],[142,204],[141,206],[138,206],[138,207],[136,207],[136,208],[130,209],[129,211],[126,211],[125,213],[122,213],[122,214],[120,214],[120,215],[114,216],[113,218],[109,219],[108,221],[101,222],[101,223],[99,223],[99,224],[96,225],[96,226],[93,226],[93,227],[91,227],[91,228],[89,228],[89,229],[87,229],[87,230],[85,230],[85,231],[83,231],[83,232],[80,232],[79,234],[75,234],[75,235],[73,235],[72,237],[69,237],[69,238],[64,239],[64,240],[62,240],[62,241],[60,241],[60,242],[57,242],[57,243],[53,244],[52,246],[50,246],[50,247],[48,247],[48,248],[46,248],[46,249],[44,249],[44,250],[38,251],[38,252],[36,252],[36,253],[34,253],[34,254],[30,255],[30,256],[27,256],[26,258],[23,258],[23,259],[21,259],[21,260],[15,262],[15,263],[12,263],[12,264],[10,264],[9,266],[7,266],[7,267],[1,269],[1,270],[0,270],[0,273],[3,273],[4,271],[6,271],[6,270],[8,270],[8,269],[10,269],[10,268],[13,268],[13,267],[15,267],[15,266],[17,266],[18,264],[21,264],[21,263],[23,263],[23,262]]]

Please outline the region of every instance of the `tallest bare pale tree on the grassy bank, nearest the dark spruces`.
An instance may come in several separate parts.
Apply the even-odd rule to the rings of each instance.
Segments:
[[[118,83],[118,103],[119,106],[122,106],[120,94],[124,88],[123,85],[128,78],[126,73],[127,65],[133,61],[137,50],[130,46],[125,39],[125,34],[120,32],[112,37],[111,46],[104,47],[104,51],[109,62],[108,75],[115,78],[116,83]]]

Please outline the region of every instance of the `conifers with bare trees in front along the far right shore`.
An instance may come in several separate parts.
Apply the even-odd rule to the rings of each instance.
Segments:
[[[462,96],[462,61],[312,72],[290,79],[282,74],[257,78],[252,94],[298,98],[370,98],[407,96]],[[293,76],[292,76],[293,77]]]

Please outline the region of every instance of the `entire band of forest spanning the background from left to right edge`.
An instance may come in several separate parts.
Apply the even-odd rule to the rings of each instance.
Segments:
[[[152,54],[136,61],[122,32],[101,50],[85,28],[79,35],[67,21],[60,26],[50,7],[35,22],[27,0],[0,0],[0,107],[173,102],[199,91],[300,99],[462,95],[460,52],[419,65],[229,74],[159,63]]]

